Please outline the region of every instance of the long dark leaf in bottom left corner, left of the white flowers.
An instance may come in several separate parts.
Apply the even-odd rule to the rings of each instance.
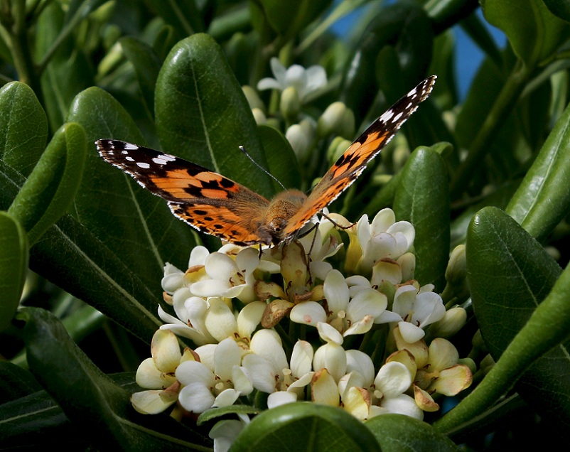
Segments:
[[[129,392],[104,375],[48,311],[26,308],[18,318],[26,322],[23,335],[31,371],[87,443],[128,451],[205,446],[204,438],[188,434],[173,419],[136,414]]]

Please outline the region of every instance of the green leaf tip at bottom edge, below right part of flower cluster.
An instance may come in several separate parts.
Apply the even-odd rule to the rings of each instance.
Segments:
[[[459,448],[426,422],[403,414],[383,414],[365,422],[382,452],[451,452]]]

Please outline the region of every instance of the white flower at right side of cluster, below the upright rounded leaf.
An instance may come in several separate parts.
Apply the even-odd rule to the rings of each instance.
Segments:
[[[424,337],[427,325],[439,321],[445,316],[441,296],[432,292],[433,284],[426,284],[420,289],[412,284],[401,286],[394,294],[392,311],[402,317],[398,323],[399,332],[407,343],[415,343]]]

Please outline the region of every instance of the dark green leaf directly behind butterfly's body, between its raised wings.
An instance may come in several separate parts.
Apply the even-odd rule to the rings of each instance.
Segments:
[[[300,188],[301,168],[289,141],[279,130],[270,126],[260,125],[257,133],[262,141],[269,173],[286,188]],[[274,190],[279,193],[283,188],[274,181]]]

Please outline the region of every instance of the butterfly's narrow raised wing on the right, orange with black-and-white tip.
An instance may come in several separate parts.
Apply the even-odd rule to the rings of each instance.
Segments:
[[[284,231],[286,239],[294,237],[313,215],[332,203],[360,176],[366,164],[382,151],[418,105],[427,99],[436,78],[431,75],[399,99],[350,145],[316,185],[303,208],[291,217]]]

